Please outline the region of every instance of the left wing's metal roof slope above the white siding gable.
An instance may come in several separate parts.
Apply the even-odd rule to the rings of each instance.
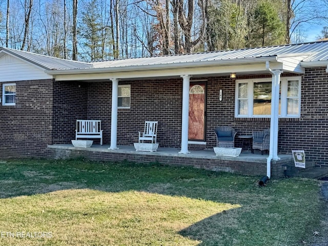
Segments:
[[[0,47],[0,54],[2,51],[5,51],[5,53],[12,54],[16,57],[27,60],[30,63],[33,63],[33,64],[37,65],[38,67],[42,67],[47,70],[84,69],[84,68],[92,67],[92,64],[90,64],[90,63],[83,63],[80,61],[60,59],[60,58],[55,58],[55,57],[51,57],[51,56],[47,56],[47,55],[35,54],[35,53],[22,51],[22,50],[14,50],[14,49]]]

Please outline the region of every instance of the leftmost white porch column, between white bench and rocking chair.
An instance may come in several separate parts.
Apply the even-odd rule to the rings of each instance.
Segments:
[[[109,150],[117,150],[117,101],[118,101],[118,79],[112,80],[112,117],[111,117],[111,146]]]

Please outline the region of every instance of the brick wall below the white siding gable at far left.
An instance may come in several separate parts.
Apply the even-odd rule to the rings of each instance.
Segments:
[[[0,105],[0,157],[48,156],[52,144],[51,79],[13,81],[16,105]],[[2,84],[0,90],[2,95]]]

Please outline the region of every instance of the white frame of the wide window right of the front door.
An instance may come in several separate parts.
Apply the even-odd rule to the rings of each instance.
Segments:
[[[287,113],[287,90],[288,90],[288,81],[291,80],[298,80],[298,97],[292,97],[298,99],[298,114],[297,115],[291,115]],[[235,89],[235,117],[236,118],[270,118],[271,115],[253,115],[253,91],[254,91],[254,83],[260,83],[260,82],[271,82],[272,78],[258,78],[258,79],[236,79],[236,89]],[[238,114],[238,104],[239,99],[238,98],[238,85],[239,84],[248,84],[248,114],[241,115]],[[279,118],[299,118],[300,117],[300,111],[301,111],[301,77],[295,76],[295,77],[280,77],[280,86],[281,86],[281,93],[280,93],[280,103],[281,103],[281,109]]]

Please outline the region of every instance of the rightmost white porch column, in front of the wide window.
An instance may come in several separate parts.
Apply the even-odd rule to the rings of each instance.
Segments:
[[[272,70],[272,97],[271,97],[271,121],[270,121],[270,154],[273,160],[278,157],[278,130],[279,130],[279,88],[281,70]]]

